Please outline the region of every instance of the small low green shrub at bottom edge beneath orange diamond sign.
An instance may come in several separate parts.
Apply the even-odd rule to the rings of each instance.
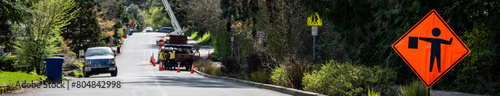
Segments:
[[[399,96],[426,96],[427,87],[421,81],[415,80],[411,84],[401,87]]]

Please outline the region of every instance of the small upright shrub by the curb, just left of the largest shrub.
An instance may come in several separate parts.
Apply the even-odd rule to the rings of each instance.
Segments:
[[[285,66],[280,66],[274,69],[274,71],[271,73],[271,83],[284,87],[292,87],[292,83],[288,78]]]

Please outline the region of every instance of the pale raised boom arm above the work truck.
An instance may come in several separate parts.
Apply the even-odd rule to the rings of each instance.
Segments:
[[[168,16],[170,17],[172,28],[174,28],[174,32],[170,33],[169,35],[182,35],[181,26],[179,25],[179,22],[177,22],[177,18],[175,18],[174,11],[172,11],[172,8],[170,8],[170,4],[167,0],[162,0],[162,2],[165,10],[167,10]]]

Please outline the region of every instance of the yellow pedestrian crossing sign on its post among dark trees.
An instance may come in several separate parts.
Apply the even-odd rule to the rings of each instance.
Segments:
[[[307,26],[311,26],[311,35],[313,36],[313,61],[316,57],[316,36],[318,36],[318,26],[323,26],[323,21],[319,18],[317,12],[307,17]]]

